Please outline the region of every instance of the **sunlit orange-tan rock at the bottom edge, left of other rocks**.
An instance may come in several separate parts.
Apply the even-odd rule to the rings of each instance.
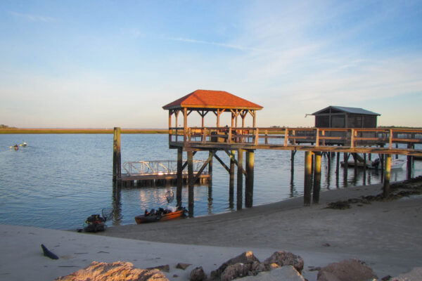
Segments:
[[[93,261],[87,268],[56,279],[56,281],[78,280],[169,281],[164,273],[158,269],[147,270],[134,268],[132,263],[123,261],[116,261],[114,263]]]

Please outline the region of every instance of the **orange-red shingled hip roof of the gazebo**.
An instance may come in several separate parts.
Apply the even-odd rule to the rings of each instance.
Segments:
[[[261,105],[251,103],[248,100],[234,96],[226,91],[196,90],[183,98],[163,106],[165,110],[181,108],[194,109],[240,109],[240,110],[262,110]]]

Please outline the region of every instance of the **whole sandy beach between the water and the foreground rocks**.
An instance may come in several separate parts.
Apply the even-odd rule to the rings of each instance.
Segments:
[[[328,190],[311,207],[303,207],[298,197],[227,214],[110,227],[97,234],[0,225],[0,249],[8,253],[0,258],[0,279],[30,275],[32,280],[53,280],[91,261],[130,261],[138,268],[168,264],[170,280],[188,280],[194,267],[203,266],[209,274],[248,250],[262,261],[274,251],[292,251],[304,259],[308,280],[316,280],[312,267],[350,258],[366,262],[380,278],[397,276],[422,266],[422,195],[326,209],[328,202],[378,195],[381,188]],[[44,257],[41,243],[60,259]],[[174,268],[179,262],[192,266]]]

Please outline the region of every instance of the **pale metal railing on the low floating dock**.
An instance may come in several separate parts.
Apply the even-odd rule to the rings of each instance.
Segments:
[[[204,160],[193,160],[193,171],[194,172],[198,171],[204,162],[205,162]],[[171,174],[177,174],[177,161],[158,160],[158,161],[124,162],[123,169],[124,171],[126,171],[126,173],[129,176],[171,175]]]

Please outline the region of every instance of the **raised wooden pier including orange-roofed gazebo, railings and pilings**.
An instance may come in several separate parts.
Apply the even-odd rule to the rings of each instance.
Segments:
[[[422,157],[422,149],[415,147],[415,145],[422,145],[422,130],[261,128],[256,126],[256,117],[257,110],[261,110],[262,106],[225,91],[197,90],[165,105],[163,109],[169,111],[169,148],[177,149],[177,163],[174,169],[177,202],[178,204],[181,202],[181,188],[187,181],[189,216],[193,216],[193,185],[203,176],[207,176],[209,184],[212,184],[213,159],[216,159],[229,174],[229,202],[233,202],[234,174],[237,173],[236,207],[242,209],[243,203],[245,207],[252,207],[253,204],[254,152],[258,149],[290,151],[292,176],[295,155],[298,151],[305,152],[305,206],[319,202],[322,155],[329,155],[328,165],[331,166],[331,156],[337,153],[336,174],[339,174],[340,153],[343,153],[346,163],[352,155],[355,167],[357,167],[357,161],[363,161],[366,164],[366,159],[371,160],[372,154],[378,155],[381,159],[381,169],[383,169],[385,196],[388,196],[390,192],[392,155],[407,155],[409,178],[413,157]],[[188,116],[192,112],[199,115],[202,126],[188,126]],[[205,126],[205,117],[209,113],[215,115],[217,119],[215,127]],[[221,126],[222,114],[231,115],[231,124]],[[179,117],[183,117],[182,126],[179,125]],[[246,126],[248,117],[252,119],[249,120],[250,126]],[[118,145],[120,146],[120,143]],[[193,157],[198,151],[208,151],[209,157],[194,169],[196,160]],[[217,151],[226,152],[228,159],[217,156]],[[182,160],[184,153],[187,155],[186,161]],[[358,153],[361,153],[363,157],[359,157]],[[206,167],[208,167],[207,173]],[[113,171],[117,169],[113,168]],[[245,181],[243,181],[243,176]],[[122,179],[124,176],[113,176],[113,178],[117,178],[118,181],[118,178]]]

